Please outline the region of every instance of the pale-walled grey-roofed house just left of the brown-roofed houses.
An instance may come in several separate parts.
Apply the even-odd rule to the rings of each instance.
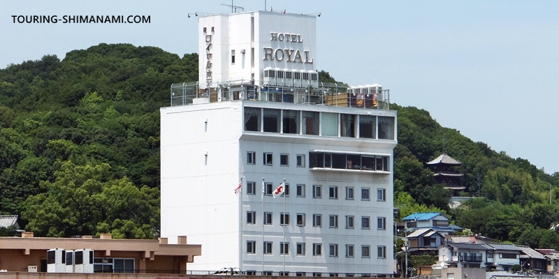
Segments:
[[[513,244],[487,243],[487,269],[509,271],[514,264],[520,264],[522,249]]]

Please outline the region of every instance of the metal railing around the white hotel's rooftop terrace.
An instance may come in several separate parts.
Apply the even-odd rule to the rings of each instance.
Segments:
[[[390,89],[376,93],[349,93],[347,84],[319,83],[312,87],[290,87],[243,80],[217,82],[211,86],[198,82],[172,84],[170,106],[190,105],[195,99],[206,98],[201,103],[228,102],[235,100],[259,100],[265,102],[296,103],[307,105],[330,105],[335,107],[358,107],[363,109],[389,110]]]

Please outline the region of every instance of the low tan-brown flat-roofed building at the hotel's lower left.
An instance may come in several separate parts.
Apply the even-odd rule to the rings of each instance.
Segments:
[[[63,239],[23,232],[22,237],[0,237],[0,269],[29,271],[29,266],[35,266],[36,272],[48,272],[48,264],[55,264],[54,258],[50,262],[48,251],[57,248],[64,251],[63,255],[69,250],[91,250],[89,264],[94,273],[184,273],[187,264],[201,255],[202,248],[187,244],[186,236],[180,236],[178,241],[168,244],[167,239],[112,239],[111,234],[101,234],[99,239]],[[66,257],[61,261],[64,267],[69,265]]]

